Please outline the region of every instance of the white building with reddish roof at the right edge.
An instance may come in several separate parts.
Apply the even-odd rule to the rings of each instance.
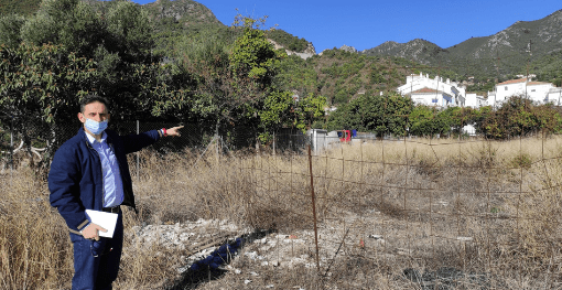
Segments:
[[[561,88],[555,87],[552,83],[529,82],[527,78],[510,79],[497,84],[495,92],[488,92],[488,104],[498,108],[512,96],[527,97],[536,104],[554,103],[559,105]]]

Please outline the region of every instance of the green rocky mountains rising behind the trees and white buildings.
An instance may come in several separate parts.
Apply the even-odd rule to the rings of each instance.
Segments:
[[[109,4],[99,0],[82,1],[100,13]],[[33,13],[40,2],[0,0],[0,15]],[[210,29],[212,33],[225,34],[229,40],[240,32],[227,29],[213,11],[193,0],[156,0],[141,7],[152,19],[158,51],[164,54],[174,51],[185,36],[202,30]],[[268,31],[267,37],[275,47],[301,58],[290,64],[287,76],[290,80],[285,82],[289,89],[316,90],[333,103],[346,101],[357,94],[393,90],[403,84],[407,75],[420,72],[456,82],[474,79],[465,83],[467,90],[479,93],[493,89],[496,82],[525,75],[527,71],[536,74],[538,80],[562,85],[562,10],[541,20],[519,21],[494,35],[472,37],[446,49],[415,39],[408,43],[386,42],[360,53],[344,45],[316,54],[312,43],[282,30]],[[291,74],[303,77],[294,79]],[[295,85],[300,80],[307,83]]]

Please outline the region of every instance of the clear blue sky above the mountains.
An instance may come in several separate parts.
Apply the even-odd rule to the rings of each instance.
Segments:
[[[150,3],[154,0],[133,0]],[[237,14],[278,24],[312,42],[316,53],[346,44],[363,51],[387,41],[423,39],[446,49],[472,36],[488,36],[517,21],[542,19],[561,0],[199,0],[230,25]]]

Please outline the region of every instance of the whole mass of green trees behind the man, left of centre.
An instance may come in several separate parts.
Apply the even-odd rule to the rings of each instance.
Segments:
[[[158,117],[231,135],[247,128],[253,142],[267,142],[283,127],[304,130],[325,106],[314,93],[293,103],[294,93],[275,82],[287,54],[268,42],[263,20],[239,15],[231,28],[162,36],[154,33],[165,32],[161,22],[129,1],[53,0],[32,17],[8,15],[0,23],[0,109],[24,135],[32,123],[43,128],[39,138],[63,133],[87,94],[109,98],[121,120]],[[164,41],[171,50],[163,50]]]

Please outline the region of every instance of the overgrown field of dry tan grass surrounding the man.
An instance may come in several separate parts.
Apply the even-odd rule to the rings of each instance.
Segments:
[[[562,287],[561,137],[356,141],[312,158],[208,152],[143,151],[138,175],[131,155],[139,214],[125,213],[116,289]],[[69,289],[71,243],[46,182],[29,168],[7,172],[0,289]],[[246,243],[219,269],[180,272],[201,240],[138,238],[195,221]]]

